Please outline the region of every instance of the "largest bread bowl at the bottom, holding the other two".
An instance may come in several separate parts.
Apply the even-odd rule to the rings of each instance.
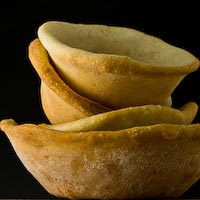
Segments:
[[[26,169],[52,195],[179,197],[200,178],[200,124],[189,124],[197,105],[189,103],[182,111],[162,106],[127,109],[73,122],[76,125],[18,125],[3,120],[0,128]],[[132,128],[123,117],[133,120]],[[101,125],[100,131],[96,124]],[[74,127],[82,130],[72,131]],[[85,131],[88,127],[90,131]],[[116,130],[106,130],[110,127]]]

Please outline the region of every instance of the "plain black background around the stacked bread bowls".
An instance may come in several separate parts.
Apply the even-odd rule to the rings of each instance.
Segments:
[[[155,35],[200,58],[198,1],[8,1],[0,5],[0,120],[48,122],[39,98],[39,78],[27,56],[37,28],[49,20],[126,26]],[[173,107],[200,105],[200,71],[174,91]],[[195,122],[200,120],[199,114]],[[183,198],[200,198],[197,182]],[[55,198],[23,167],[0,132],[0,198]]]

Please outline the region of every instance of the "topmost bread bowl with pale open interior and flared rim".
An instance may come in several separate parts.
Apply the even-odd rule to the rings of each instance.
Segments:
[[[73,90],[113,109],[171,106],[176,86],[199,67],[186,50],[130,28],[48,21],[38,37]]]

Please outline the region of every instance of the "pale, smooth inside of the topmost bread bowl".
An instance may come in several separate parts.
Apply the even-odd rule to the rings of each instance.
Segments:
[[[39,28],[39,38],[43,31],[72,48],[128,56],[151,65],[182,66],[194,61],[189,52],[130,28],[52,21]]]

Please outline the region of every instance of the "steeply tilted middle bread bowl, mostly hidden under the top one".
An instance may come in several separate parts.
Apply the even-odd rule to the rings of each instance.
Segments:
[[[63,123],[111,109],[73,91],[56,73],[39,39],[29,45],[29,59],[41,79],[41,103],[51,123]]]

